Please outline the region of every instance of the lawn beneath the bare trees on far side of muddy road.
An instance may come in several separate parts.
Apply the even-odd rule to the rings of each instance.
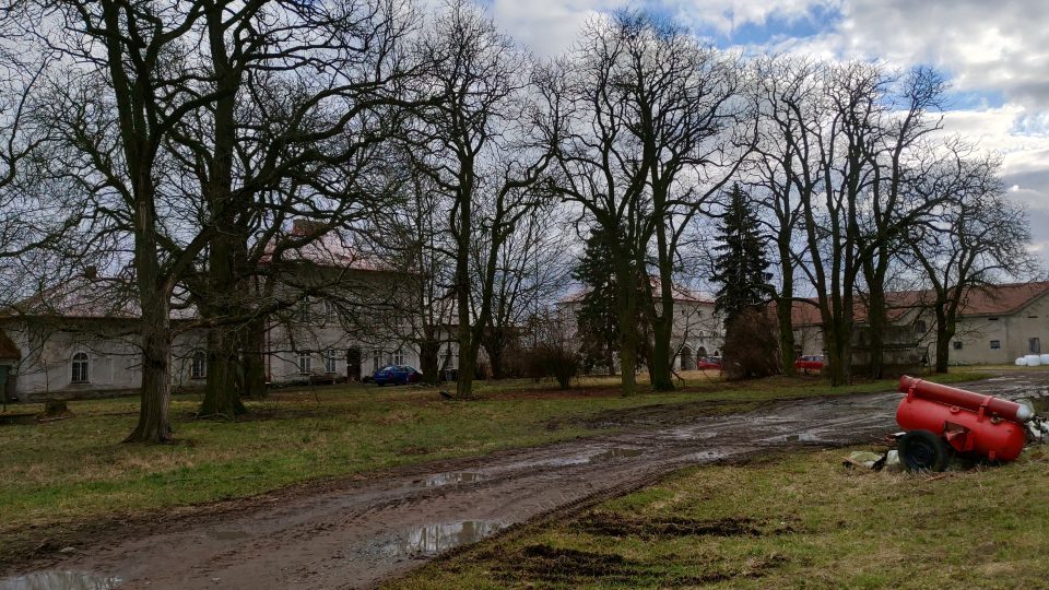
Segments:
[[[199,397],[182,394],[172,403],[178,442],[164,446],[119,444],[134,425],[135,399],[71,402],[69,420],[0,425],[0,563],[116,518],[593,435],[608,432],[599,425],[628,424],[643,406],[674,405],[672,415],[685,420],[769,400],[892,388],[874,381],[832,391],[818,378],[699,377],[675,392],[624,398],[614,382],[586,380],[568,392],[530,381],[481,384],[470,402],[443,401],[421,388],[284,390],[249,402],[251,414],[237,422],[195,420]],[[609,415],[616,420],[596,420]]]

